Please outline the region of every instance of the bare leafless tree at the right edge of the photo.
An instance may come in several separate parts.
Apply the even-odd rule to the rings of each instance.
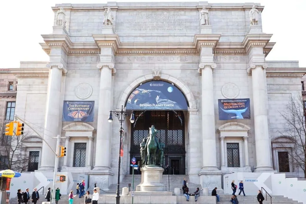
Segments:
[[[295,167],[299,167],[304,171],[306,178],[305,163],[306,163],[306,128],[305,128],[305,103],[302,97],[291,98],[286,109],[281,113],[285,119],[285,127],[279,131],[281,136],[287,137],[292,141],[293,147],[288,147],[282,144],[291,156],[289,162]]]

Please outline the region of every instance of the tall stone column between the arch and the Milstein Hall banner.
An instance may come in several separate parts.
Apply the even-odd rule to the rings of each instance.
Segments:
[[[202,155],[203,170],[218,170],[215,134],[215,106],[212,70],[215,63],[200,63],[202,73]]]

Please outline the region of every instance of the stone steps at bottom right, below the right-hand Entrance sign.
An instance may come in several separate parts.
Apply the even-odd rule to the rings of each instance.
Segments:
[[[232,195],[229,194],[218,194],[220,195],[220,204],[229,204],[230,198]],[[239,201],[239,204],[258,204],[257,201],[257,195],[237,195],[237,199]],[[271,199],[268,196],[267,198],[265,197],[265,200],[263,203],[270,203],[271,204]],[[294,201],[292,199],[286,198],[281,195],[274,195],[272,196],[272,203],[277,203],[277,204],[303,204],[301,202]]]

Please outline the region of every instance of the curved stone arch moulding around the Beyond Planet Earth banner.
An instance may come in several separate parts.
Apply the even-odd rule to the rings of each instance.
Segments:
[[[119,101],[117,103],[117,108],[121,109],[121,105],[125,104],[125,102],[127,101],[129,95],[131,94],[131,92],[137,87],[139,86],[140,83],[145,83],[148,81],[151,81],[154,79],[153,74],[146,74],[144,76],[141,76],[139,78],[137,78],[136,80],[134,80],[132,83],[130,83],[125,90],[121,93],[121,96],[119,98]],[[194,99],[194,96],[191,92],[191,90],[189,89],[189,87],[181,82],[180,80],[178,80],[177,78],[169,75],[169,74],[161,74],[160,76],[160,80],[162,81],[166,81],[169,83],[174,83],[174,85],[177,86],[177,88],[179,88],[182,93],[185,95],[186,100],[188,102],[189,105],[189,109],[196,109],[196,101]]]

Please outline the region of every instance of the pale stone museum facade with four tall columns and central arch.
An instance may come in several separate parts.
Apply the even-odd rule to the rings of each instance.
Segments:
[[[168,138],[164,165],[209,188],[221,188],[221,176],[229,172],[280,171],[271,141],[285,124],[279,111],[301,95],[306,69],[297,61],[265,60],[275,43],[262,31],[264,7],[255,5],[251,16],[247,3],[56,5],[53,33],[42,35],[41,43],[50,61],[11,69],[18,78],[16,114],[53,148],[52,137],[66,137],[59,170],[88,173],[91,184],[109,186],[116,183],[120,142],[120,123],[108,123],[109,111],[125,107],[141,84],[168,82],[185,96],[188,109],[138,111],[135,122],[141,130],[151,121],[157,129],[168,124],[161,136]],[[250,99],[250,119],[219,120],[218,99],[244,98]],[[92,121],[63,120],[64,101],[94,101]],[[145,114],[149,120],[141,118]],[[174,118],[181,131],[171,135]],[[131,142],[138,141],[135,127],[128,119],[123,123],[122,175],[130,173],[130,159],[139,158],[133,152],[138,143]],[[167,145],[175,138],[180,151],[171,152]],[[45,142],[36,146],[38,171],[53,171],[52,151]],[[298,176],[300,169],[289,171]]]

